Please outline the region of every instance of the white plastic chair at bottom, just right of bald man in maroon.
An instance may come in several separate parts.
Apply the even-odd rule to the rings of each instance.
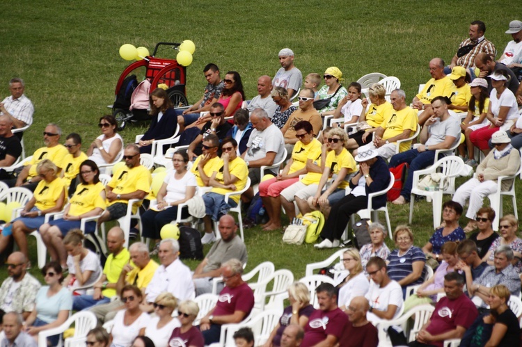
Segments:
[[[408,342],[411,342],[416,339],[416,336],[422,325],[425,325],[429,318],[432,317],[432,313],[434,312],[435,307],[432,305],[419,305],[410,309],[408,312],[400,316],[400,318],[393,319],[390,321],[379,321],[377,323],[377,331],[379,334],[379,346],[386,346],[386,342],[388,340],[388,328],[393,325],[399,325],[404,332],[407,331],[407,325],[410,321],[410,318],[413,318],[413,326],[409,330],[409,333],[406,333],[406,337],[408,338]],[[391,346],[391,344],[389,344]]]

